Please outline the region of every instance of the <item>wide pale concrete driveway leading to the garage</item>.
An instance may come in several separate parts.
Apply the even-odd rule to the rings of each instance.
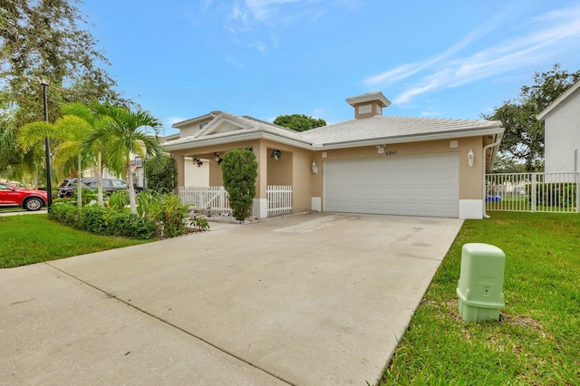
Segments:
[[[0,383],[372,384],[461,224],[316,213],[0,270]]]

